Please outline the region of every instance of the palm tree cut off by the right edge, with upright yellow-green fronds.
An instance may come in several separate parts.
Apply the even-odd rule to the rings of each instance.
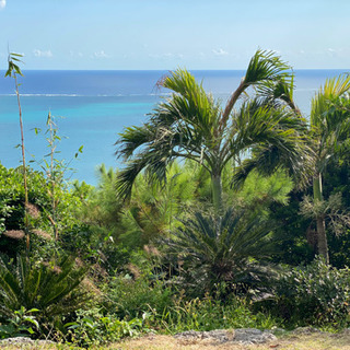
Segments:
[[[315,140],[316,172],[313,180],[314,203],[322,202],[323,174],[331,159],[349,145],[350,75],[326,80],[312,101],[311,133]],[[325,214],[316,215],[318,254],[329,262]]]

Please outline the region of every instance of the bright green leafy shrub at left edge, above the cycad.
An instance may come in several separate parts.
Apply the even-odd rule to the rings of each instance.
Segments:
[[[82,200],[61,183],[55,188],[54,208],[50,183],[45,174],[27,167],[26,175],[32,255],[50,257],[59,246],[59,242],[54,241],[55,230],[61,235],[81,225],[77,212]],[[12,258],[24,250],[21,238],[25,226],[24,197],[22,168],[5,168],[0,164],[0,253]]]

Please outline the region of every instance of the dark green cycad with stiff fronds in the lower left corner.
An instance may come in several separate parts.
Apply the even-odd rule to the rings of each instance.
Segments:
[[[78,289],[84,276],[85,268],[77,268],[68,256],[47,264],[25,256],[19,256],[16,264],[0,259],[0,315],[11,317],[22,306],[37,308],[44,320],[68,314],[86,301],[86,293]]]

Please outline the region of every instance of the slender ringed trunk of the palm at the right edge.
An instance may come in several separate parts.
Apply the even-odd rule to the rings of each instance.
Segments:
[[[313,190],[314,190],[314,202],[322,201],[323,194],[322,194],[322,174],[320,173],[318,173],[318,176],[314,178]],[[316,228],[317,228],[318,254],[325,258],[326,264],[329,264],[325,217],[323,213],[319,213],[316,217]]]

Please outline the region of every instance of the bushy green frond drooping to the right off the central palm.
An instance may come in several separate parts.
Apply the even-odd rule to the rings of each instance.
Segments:
[[[244,105],[235,118],[236,132],[230,143],[233,154],[250,150],[253,158],[245,159],[233,177],[241,186],[248,174],[258,170],[271,175],[285,167],[293,178],[307,183],[314,171],[314,153],[305,137],[306,122],[285,108],[256,108]],[[228,159],[230,159],[230,153]]]

